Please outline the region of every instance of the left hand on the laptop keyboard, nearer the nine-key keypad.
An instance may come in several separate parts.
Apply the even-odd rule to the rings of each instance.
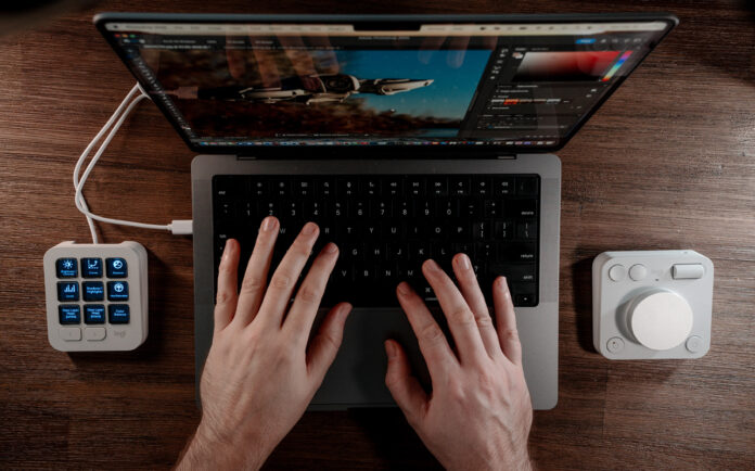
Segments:
[[[290,307],[319,229],[304,226],[266,287],[278,229],[274,217],[263,221],[240,292],[239,243],[226,243],[200,383],[202,421],[178,469],[259,468],[302,417],[338,351],[347,303],[333,307],[307,347],[338,249],[324,246]]]

